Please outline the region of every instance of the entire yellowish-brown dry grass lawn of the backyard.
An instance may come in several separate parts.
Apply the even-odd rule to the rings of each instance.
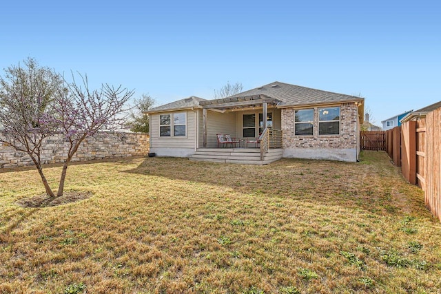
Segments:
[[[37,171],[0,170],[0,293],[441,292],[441,224],[383,152],[95,161],[65,190],[93,195],[22,208]]]

